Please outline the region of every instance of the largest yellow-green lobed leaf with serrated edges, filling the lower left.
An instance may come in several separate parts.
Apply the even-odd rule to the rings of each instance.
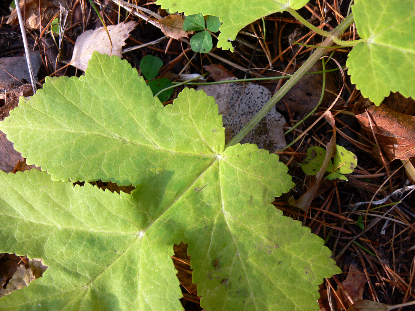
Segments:
[[[49,265],[0,310],[183,310],[170,258],[182,240],[207,310],[318,310],[318,284],[340,272],[270,204],[293,187],[278,155],[224,150],[202,91],[163,107],[127,61],[94,53],[85,76],[48,79],[0,129],[50,174],[0,172],[0,252]],[[67,181],[98,179],[136,190]]]

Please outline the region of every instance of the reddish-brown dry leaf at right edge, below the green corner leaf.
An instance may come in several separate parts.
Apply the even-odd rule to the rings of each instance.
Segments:
[[[415,117],[393,111],[384,104],[367,108],[379,146],[389,160],[415,156]],[[372,134],[368,114],[356,115],[360,125]]]

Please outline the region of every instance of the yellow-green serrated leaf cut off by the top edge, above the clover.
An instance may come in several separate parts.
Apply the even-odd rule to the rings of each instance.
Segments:
[[[220,27],[217,47],[233,52],[232,41],[239,30],[255,22],[261,17],[275,12],[283,12],[288,7],[298,10],[308,0],[255,0],[255,1],[229,1],[229,0],[157,0],[162,9],[173,12],[184,12],[187,15],[202,13],[219,17],[223,23]]]

